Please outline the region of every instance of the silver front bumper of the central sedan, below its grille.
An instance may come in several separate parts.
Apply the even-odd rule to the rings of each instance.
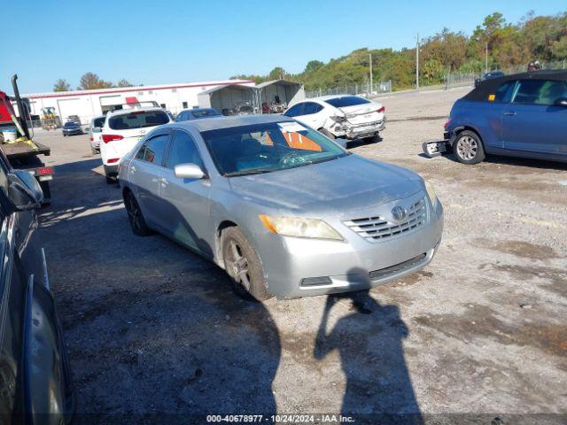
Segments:
[[[270,235],[271,243],[261,243],[269,247],[259,246],[268,291],[278,298],[308,297],[368,289],[415,273],[431,262],[443,233],[443,207],[438,202],[432,211],[430,203],[429,209],[422,227],[377,243],[348,228],[340,230],[345,242]]]

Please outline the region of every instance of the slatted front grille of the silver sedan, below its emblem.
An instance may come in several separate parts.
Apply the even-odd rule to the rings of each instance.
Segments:
[[[343,221],[345,225],[365,238],[369,242],[387,239],[407,233],[425,224],[427,219],[427,207],[425,198],[422,197],[408,208],[407,217],[400,222],[392,222],[382,216],[364,217]]]

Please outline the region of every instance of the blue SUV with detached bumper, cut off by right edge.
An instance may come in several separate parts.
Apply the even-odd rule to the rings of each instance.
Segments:
[[[567,162],[567,71],[482,81],[454,103],[445,142],[423,144],[430,156],[450,150],[463,164],[490,154]]]

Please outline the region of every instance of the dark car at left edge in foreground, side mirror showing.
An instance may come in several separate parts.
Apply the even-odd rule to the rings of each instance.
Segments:
[[[36,209],[32,174],[0,153],[0,423],[68,423],[74,392]]]

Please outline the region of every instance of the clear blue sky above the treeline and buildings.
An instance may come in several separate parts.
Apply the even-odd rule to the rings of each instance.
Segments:
[[[470,35],[486,15],[567,11],[565,0],[3,0],[0,90],[44,92],[83,73],[166,84],[299,73],[362,47],[413,47],[444,27]],[[9,36],[9,38],[8,38]]]

